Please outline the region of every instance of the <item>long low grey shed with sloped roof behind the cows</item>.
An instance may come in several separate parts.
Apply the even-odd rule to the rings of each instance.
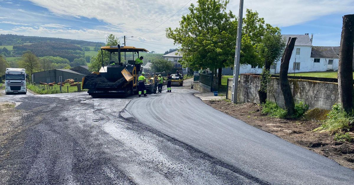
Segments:
[[[47,71],[39,71],[32,74],[32,82],[59,82],[59,76],[62,76],[63,81],[66,79],[74,79],[75,81],[82,81],[82,77],[89,74],[87,66],[77,66],[72,69],[52,69]],[[87,70],[87,71],[86,71]]]

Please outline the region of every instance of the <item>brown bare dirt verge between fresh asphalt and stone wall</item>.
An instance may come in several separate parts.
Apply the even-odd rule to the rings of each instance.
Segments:
[[[203,102],[249,125],[273,133],[291,143],[335,160],[342,166],[354,169],[354,143],[335,141],[334,135],[313,132],[314,128],[322,124],[321,121],[268,117],[262,115],[261,107],[254,103],[233,104],[224,100]]]

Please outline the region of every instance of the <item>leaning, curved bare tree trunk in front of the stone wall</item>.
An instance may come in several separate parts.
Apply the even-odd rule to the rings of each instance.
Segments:
[[[289,70],[289,62],[291,58],[291,53],[294,50],[296,37],[289,37],[287,42],[283,57],[281,59],[280,71],[279,71],[279,80],[280,80],[280,89],[283,93],[285,107],[287,109],[287,115],[292,116],[295,114],[295,103],[292,97],[292,92],[287,78],[287,72]]]

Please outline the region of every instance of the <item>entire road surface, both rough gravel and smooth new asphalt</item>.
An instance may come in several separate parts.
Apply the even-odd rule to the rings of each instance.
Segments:
[[[193,89],[8,95],[0,184],[350,184],[354,171],[227,116]],[[11,115],[1,115],[11,116]],[[11,121],[10,120],[10,121]],[[15,121],[13,121],[15,120]],[[16,132],[15,132],[16,131]]]

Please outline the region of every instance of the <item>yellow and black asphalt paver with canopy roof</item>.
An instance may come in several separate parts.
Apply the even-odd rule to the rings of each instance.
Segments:
[[[109,52],[110,62],[103,62],[103,51]],[[121,62],[121,53],[132,53],[132,60]],[[148,52],[144,48],[132,46],[103,46],[101,47],[102,67],[98,72],[93,72],[82,78],[82,89],[87,91],[92,97],[107,96],[131,96],[138,93],[137,79],[141,75],[140,64],[136,64],[134,54],[139,58],[139,52]],[[118,63],[112,61],[112,54],[118,54]],[[139,66],[138,66],[139,65]],[[149,82],[148,77],[147,93],[156,93],[157,83]]]

